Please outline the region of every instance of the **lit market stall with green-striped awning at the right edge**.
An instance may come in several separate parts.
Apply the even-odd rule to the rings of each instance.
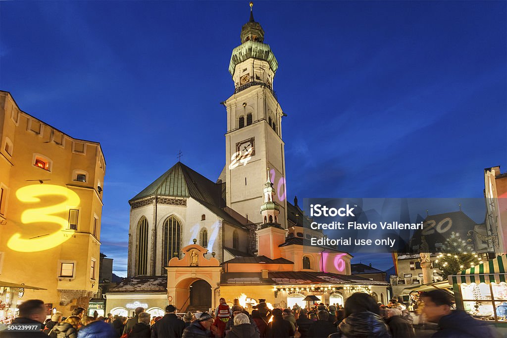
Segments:
[[[449,276],[456,308],[470,315],[502,325],[507,324],[507,255],[501,255]],[[498,326],[498,325],[497,325]]]

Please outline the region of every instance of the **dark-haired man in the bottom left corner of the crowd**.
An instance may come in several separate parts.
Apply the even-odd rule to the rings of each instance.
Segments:
[[[0,337],[2,338],[22,338],[22,337],[48,337],[48,335],[41,331],[42,323],[46,320],[47,308],[44,302],[40,299],[29,299],[23,302],[19,307],[19,317],[12,321],[12,325],[37,325],[33,331],[2,331]]]

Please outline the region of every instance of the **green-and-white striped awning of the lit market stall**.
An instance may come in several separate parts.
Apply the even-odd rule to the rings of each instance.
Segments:
[[[450,284],[470,283],[500,283],[507,280],[507,255],[501,255],[488,260],[478,266],[459,272],[457,275],[449,276]]]

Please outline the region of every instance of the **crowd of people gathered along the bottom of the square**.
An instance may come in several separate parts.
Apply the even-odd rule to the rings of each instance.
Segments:
[[[19,306],[14,325],[38,325],[38,330],[5,330],[4,337],[53,338],[337,338],[337,337],[494,337],[496,330],[484,321],[453,309],[452,297],[442,290],[421,295],[420,311],[429,322],[438,324],[433,332],[415,331],[412,317],[396,298],[388,305],[376,303],[362,292],[353,293],[345,305],[314,304],[301,308],[270,309],[264,299],[251,313],[237,302],[229,306],[224,298],[212,312],[178,314],[168,305],[165,315],[151,317],[143,308],[136,308],[132,318],[86,316],[77,308],[70,316],[57,312],[46,320],[44,302],[30,299]],[[419,333],[419,334],[418,334]]]

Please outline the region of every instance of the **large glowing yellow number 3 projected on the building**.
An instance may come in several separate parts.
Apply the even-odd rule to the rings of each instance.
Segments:
[[[21,222],[23,224],[56,223],[59,224],[60,229],[47,236],[37,238],[37,235],[34,236],[35,233],[33,231],[37,226],[34,226],[31,228],[33,230],[26,233],[12,235],[7,242],[9,248],[20,252],[44,251],[54,248],[70,238],[64,237],[60,233],[61,230],[67,227],[68,220],[55,214],[63,214],[68,212],[70,208],[77,207],[80,203],[78,194],[66,187],[52,184],[28,185],[18,189],[16,192],[16,197],[20,202],[31,204],[41,203],[44,197],[54,198],[54,196],[64,197],[65,200],[47,207],[26,209],[21,214]],[[28,238],[22,238],[22,236]]]

